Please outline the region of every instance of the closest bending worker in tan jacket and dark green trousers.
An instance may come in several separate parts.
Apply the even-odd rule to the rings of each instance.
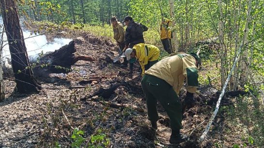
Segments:
[[[180,53],[166,57],[150,67],[141,81],[143,92],[147,98],[147,116],[152,127],[158,129],[157,100],[170,118],[172,129],[170,143],[179,144],[184,141],[180,135],[182,105],[178,94],[186,80],[188,86],[185,100],[190,104],[194,102],[193,94],[198,86],[199,60],[200,57],[194,53]]]

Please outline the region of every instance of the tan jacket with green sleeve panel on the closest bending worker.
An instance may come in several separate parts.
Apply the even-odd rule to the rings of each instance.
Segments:
[[[198,71],[195,62],[195,58],[190,54],[181,53],[162,59],[145,71],[145,74],[166,81],[177,94],[179,94],[184,80],[186,80],[187,91],[195,93],[198,87]]]

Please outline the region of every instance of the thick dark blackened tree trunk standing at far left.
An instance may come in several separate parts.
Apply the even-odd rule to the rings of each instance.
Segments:
[[[37,92],[40,85],[33,77],[29,64],[23,32],[19,24],[15,0],[0,0],[1,12],[5,27],[12,67],[15,73],[16,89],[19,93]]]

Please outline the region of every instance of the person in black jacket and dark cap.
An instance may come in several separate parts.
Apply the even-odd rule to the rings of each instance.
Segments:
[[[133,48],[136,44],[145,43],[143,32],[148,29],[145,25],[134,22],[131,16],[126,16],[122,23],[125,23],[127,26],[125,31],[125,48],[123,49],[123,52],[125,52],[127,48]],[[135,59],[131,59],[129,61],[131,75],[133,72],[134,62]]]

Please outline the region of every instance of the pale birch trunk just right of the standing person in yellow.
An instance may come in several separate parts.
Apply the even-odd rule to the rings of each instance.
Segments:
[[[169,0],[169,4],[170,4],[170,13],[171,13],[171,17],[173,18],[172,20],[172,26],[175,27],[175,13],[174,13],[174,0]],[[178,39],[177,39],[177,34],[176,34],[176,30],[172,32],[172,36],[173,36],[173,48],[172,48],[172,52],[175,53],[178,51]]]

